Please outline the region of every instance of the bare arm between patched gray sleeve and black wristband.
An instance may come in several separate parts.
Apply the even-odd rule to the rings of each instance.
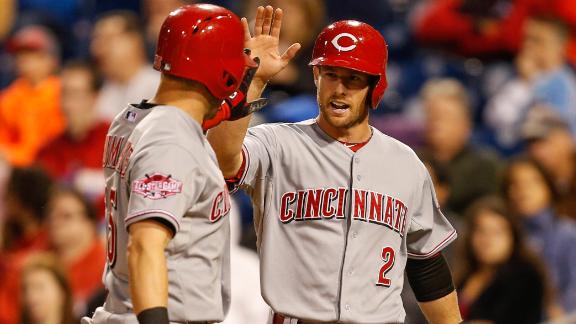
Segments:
[[[164,248],[172,232],[155,220],[142,220],[129,227],[128,269],[134,313],[167,307],[168,273]]]

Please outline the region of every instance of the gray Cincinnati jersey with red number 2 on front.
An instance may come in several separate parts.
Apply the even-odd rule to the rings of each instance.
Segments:
[[[376,129],[356,153],[314,120],[249,129],[240,185],[252,198],[262,295],[294,318],[403,322],[408,258],[456,238],[430,176]]]

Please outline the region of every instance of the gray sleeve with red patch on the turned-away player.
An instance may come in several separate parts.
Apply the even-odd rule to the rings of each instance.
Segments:
[[[127,175],[126,229],[134,222],[159,218],[177,233],[182,217],[202,192],[199,170],[191,154],[177,145],[156,145],[135,154]]]

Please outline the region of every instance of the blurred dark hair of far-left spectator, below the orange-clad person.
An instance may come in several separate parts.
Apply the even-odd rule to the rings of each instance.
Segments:
[[[52,189],[52,179],[38,167],[14,168],[8,179],[6,193],[30,209],[38,221],[45,216],[45,207]]]

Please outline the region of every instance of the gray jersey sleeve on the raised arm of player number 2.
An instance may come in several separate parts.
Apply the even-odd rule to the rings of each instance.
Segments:
[[[242,154],[244,155],[244,173],[240,185],[253,189],[258,180],[269,174],[272,161],[276,159],[276,135],[270,125],[259,125],[248,129]]]

